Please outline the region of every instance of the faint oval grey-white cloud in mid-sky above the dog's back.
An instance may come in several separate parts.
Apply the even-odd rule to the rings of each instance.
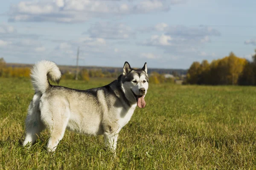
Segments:
[[[101,37],[106,39],[127,39],[135,37],[134,31],[122,23],[97,22],[87,32],[90,37]]]

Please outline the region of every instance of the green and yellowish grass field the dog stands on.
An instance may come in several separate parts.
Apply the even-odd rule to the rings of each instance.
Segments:
[[[109,79],[62,80],[87,89]],[[149,85],[143,109],[119,133],[116,156],[102,136],[66,131],[56,153],[47,133],[23,148],[29,79],[0,79],[0,169],[256,169],[256,88]]]

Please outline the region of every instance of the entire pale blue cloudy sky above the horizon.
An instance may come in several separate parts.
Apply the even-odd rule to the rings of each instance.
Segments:
[[[9,0],[0,6],[6,62],[189,68],[256,48],[255,0]]]

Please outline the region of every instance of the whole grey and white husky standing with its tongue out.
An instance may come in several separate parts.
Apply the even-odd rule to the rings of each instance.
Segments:
[[[67,128],[87,135],[103,135],[106,146],[114,151],[118,133],[131,119],[136,106],[146,105],[146,62],[141,69],[133,69],[125,62],[123,74],[117,80],[88,90],[51,85],[48,78],[60,81],[57,65],[47,60],[36,63],[31,71],[35,95],[28,108],[23,146],[31,146],[47,128],[47,149],[53,152]]]

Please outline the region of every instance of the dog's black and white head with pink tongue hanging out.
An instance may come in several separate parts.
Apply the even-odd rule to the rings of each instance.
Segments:
[[[143,68],[133,69],[128,62],[123,67],[122,86],[126,97],[133,102],[137,102],[140,108],[144,108],[144,100],[148,91],[148,68],[145,62]]]

